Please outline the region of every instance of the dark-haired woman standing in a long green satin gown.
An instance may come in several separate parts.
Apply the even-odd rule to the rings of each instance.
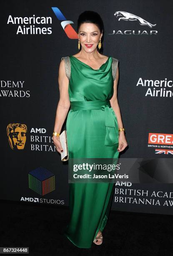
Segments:
[[[80,53],[62,57],[60,64],[68,78],[66,93],[68,91],[70,111],[66,130],[69,159],[117,159],[119,152],[127,146],[124,131],[118,131],[123,128],[116,97],[118,59],[99,53],[97,46],[100,46],[98,42],[103,35],[100,31],[103,31],[100,15],[92,11],[82,13],[78,18]],[[59,105],[62,106],[67,99],[63,96],[61,73],[63,71],[59,69]],[[67,88],[67,84],[64,83],[64,87]],[[64,113],[68,104],[65,106]],[[63,122],[58,123],[58,120],[65,119],[62,112],[59,107],[54,127],[59,133]],[[53,140],[60,152],[59,138]],[[101,232],[108,220],[112,196],[113,183],[70,183],[70,222],[65,236],[75,246],[90,248],[93,241],[98,245],[102,243]]]

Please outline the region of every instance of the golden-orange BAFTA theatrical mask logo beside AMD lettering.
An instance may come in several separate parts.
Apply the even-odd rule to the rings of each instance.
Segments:
[[[24,149],[26,142],[27,126],[20,123],[9,123],[7,136],[12,149]]]

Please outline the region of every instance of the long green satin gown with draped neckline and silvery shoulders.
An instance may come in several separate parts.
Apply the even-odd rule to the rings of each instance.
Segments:
[[[69,158],[118,158],[118,122],[109,101],[118,59],[109,56],[97,70],[74,56],[61,59],[65,60],[69,79],[70,111],[66,122]],[[75,246],[90,248],[98,231],[102,232],[107,223],[113,183],[69,186],[70,222],[64,234]]]

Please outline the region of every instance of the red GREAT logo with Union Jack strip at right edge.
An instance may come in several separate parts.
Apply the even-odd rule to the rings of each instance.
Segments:
[[[148,147],[155,148],[155,154],[173,155],[173,134],[149,133]]]

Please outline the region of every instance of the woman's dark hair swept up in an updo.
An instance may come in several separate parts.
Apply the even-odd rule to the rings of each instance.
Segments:
[[[103,32],[103,35],[101,37],[101,48],[100,50],[98,49],[98,46],[97,46],[97,49],[98,49],[98,52],[100,54],[103,53],[103,36],[104,36],[104,26],[103,26],[103,20],[102,18],[100,17],[100,15],[94,11],[90,11],[90,10],[87,10],[83,13],[81,13],[79,15],[79,18],[78,18],[78,27],[77,27],[77,31],[79,33],[79,28],[80,28],[80,25],[83,24],[83,23],[94,23],[96,26],[98,26],[99,30],[100,30],[100,33]],[[80,50],[81,51],[81,47],[80,47]]]

